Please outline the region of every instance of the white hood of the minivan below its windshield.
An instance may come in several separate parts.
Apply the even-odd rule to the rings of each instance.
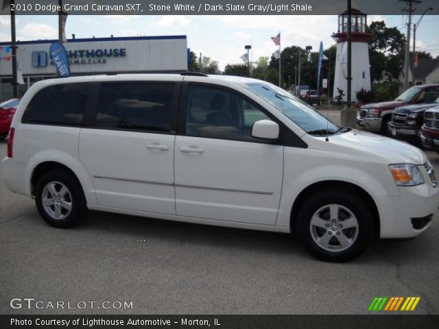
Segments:
[[[424,164],[427,157],[424,152],[410,144],[396,141],[393,138],[380,136],[359,130],[351,130],[344,134],[329,135],[333,151],[347,152],[359,158],[381,158],[385,164],[412,163]],[[320,139],[320,138],[319,138]],[[324,141],[324,138],[321,138]],[[329,149],[329,145],[324,147]]]

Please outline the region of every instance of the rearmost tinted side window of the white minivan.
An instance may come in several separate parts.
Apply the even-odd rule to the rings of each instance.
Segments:
[[[27,105],[23,123],[81,125],[89,84],[56,84],[40,90]]]

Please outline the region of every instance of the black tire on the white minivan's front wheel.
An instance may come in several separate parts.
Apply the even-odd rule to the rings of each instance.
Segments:
[[[330,210],[325,207],[329,207],[331,204],[338,205],[334,208],[337,209],[337,214],[339,214],[337,215],[337,221],[332,222],[333,216],[330,216],[327,221],[321,222],[324,223],[324,228],[311,226],[311,219],[318,210],[323,209],[321,212],[318,212],[319,219],[329,216],[328,212]],[[354,217],[347,217],[349,212]],[[344,222],[347,218],[356,219],[357,226],[347,229],[340,228],[340,224],[348,223],[347,221]],[[328,225],[329,227],[327,227]],[[348,226],[348,224],[345,224],[345,226]],[[374,223],[372,213],[368,209],[367,204],[360,197],[352,193],[352,191],[344,191],[340,188],[327,188],[312,195],[303,203],[298,212],[296,232],[305,249],[316,258],[329,262],[346,262],[356,258],[366,249],[373,236]],[[346,237],[348,239],[344,240]],[[320,239],[322,239],[321,244],[324,244],[323,241],[326,241],[324,239],[329,239],[327,244],[325,244],[327,245],[326,249],[316,242],[316,240],[320,241]],[[340,242],[342,240],[339,239],[342,239],[348,247],[343,247]],[[346,241],[350,241],[350,243],[346,243]]]

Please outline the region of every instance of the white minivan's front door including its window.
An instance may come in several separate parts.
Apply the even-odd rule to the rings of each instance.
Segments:
[[[185,105],[174,150],[177,215],[274,226],[283,146],[251,136],[268,114],[233,90],[197,84]]]

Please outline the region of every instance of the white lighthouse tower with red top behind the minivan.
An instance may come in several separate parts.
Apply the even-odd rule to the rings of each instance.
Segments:
[[[338,32],[332,35],[337,42],[333,99],[339,95],[337,88],[343,90],[343,101],[347,100],[348,90],[348,11],[338,16]],[[372,34],[367,32],[367,15],[357,9],[351,10],[352,40],[352,95],[351,101],[357,101],[357,92],[370,90],[370,64],[368,40]]]

